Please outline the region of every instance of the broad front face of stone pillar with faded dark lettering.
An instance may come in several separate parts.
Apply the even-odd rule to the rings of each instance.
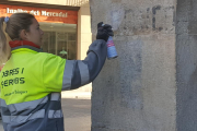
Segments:
[[[114,28],[118,58],[93,82],[92,131],[175,131],[175,0],[90,0],[93,39]]]

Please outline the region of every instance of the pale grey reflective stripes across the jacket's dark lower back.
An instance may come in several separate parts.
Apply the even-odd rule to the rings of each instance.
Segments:
[[[37,111],[34,111],[39,105],[45,105],[47,103],[50,103],[49,104],[50,107],[55,107],[56,105],[54,105],[51,102],[60,103],[60,98],[61,98],[60,93],[51,93],[50,99],[48,99],[48,96],[46,96],[37,100],[12,104],[12,105],[7,105],[5,102],[1,99],[1,107],[3,108],[3,110],[10,111],[10,115],[8,116],[3,112],[3,110],[1,110],[2,120],[4,123],[10,123],[10,122],[23,123],[28,120],[45,118],[45,117],[47,117],[48,119],[63,118],[61,107],[57,110],[43,108]],[[45,116],[46,110],[48,110],[47,116]],[[31,114],[22,115],[23,111],[28,111]]]

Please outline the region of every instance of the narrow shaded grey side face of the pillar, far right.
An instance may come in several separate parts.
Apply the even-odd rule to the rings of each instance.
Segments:
[[[197,131],[197,1],[177,1],[177,131]]]

